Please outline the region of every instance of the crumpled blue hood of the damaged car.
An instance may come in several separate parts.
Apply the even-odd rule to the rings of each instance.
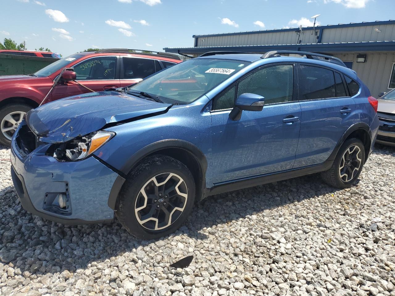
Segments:
[[[26,123],[40,141],[60,143],[84,136],[109,124],[167,112],[170,104],[157,103],[114,91],[68,97],[31,110]]]

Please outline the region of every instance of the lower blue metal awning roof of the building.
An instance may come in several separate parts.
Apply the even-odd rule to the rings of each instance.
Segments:
[[[320,52],[343,51],[395,51],[395,41],[363,41],[339,43],[234,45],[214,47],[166,47],[164,51],[184,54],[198,54],[208,51],[267,52],[271,50],[297,50]]]

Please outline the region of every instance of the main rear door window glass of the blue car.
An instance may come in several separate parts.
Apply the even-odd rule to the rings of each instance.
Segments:
[[[322,67],[299,65],[299,100],[336,97],[333,71]]]

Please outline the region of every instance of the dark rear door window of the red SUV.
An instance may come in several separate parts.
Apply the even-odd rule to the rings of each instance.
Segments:
[[[121,79],[144,79],[155,73],[155,60],[148,58],[122,57]]]

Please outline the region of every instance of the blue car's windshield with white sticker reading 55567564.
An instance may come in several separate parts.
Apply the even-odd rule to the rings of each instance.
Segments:
[[[248,64],[235,60],[187,60],[147,77],[126,92],[153,94],[165,103],[191,103]]]

